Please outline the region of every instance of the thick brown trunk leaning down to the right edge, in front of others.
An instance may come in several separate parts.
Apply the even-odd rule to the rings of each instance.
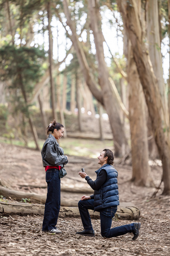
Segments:
[[[166,127],[166,120],[162,120],[161,109],[163,103],[157,79],[153,73],[151,61],[142,38],[138,6],[134,0],[129,0],[128,2],[126,0],[121,0],[118,2],[118,5],[123,17],[124,26],[126,26],[127,36],[132,44],[133,57],[143,87],[155,141],[162,161],[164,182],[163,194],[170,195],[170,129],[169,127]]]

